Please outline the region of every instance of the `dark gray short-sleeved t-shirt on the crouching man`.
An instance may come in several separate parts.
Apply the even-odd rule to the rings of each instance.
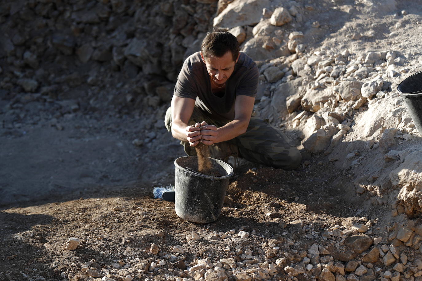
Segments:
[[[218,120],[233,120],[236,96],[257,95],[259,71],[255,62],[245,53],[240,53],[232,75],[226,82],[222,95],[211,91],[211,81],[200,52],[189,56],[177,77],[174,95],[195,99],[195,106]]]

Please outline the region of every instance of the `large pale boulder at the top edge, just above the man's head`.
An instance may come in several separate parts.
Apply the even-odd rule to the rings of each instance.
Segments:
[[[233,28],[257,24],[262,18],[262,9],[270,7],[268,0],[233,1],[214,18],[214,27]]]

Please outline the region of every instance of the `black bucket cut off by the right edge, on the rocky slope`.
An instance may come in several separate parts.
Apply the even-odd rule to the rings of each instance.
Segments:
[[[400,96],[406,103],[407,110],[422,134],[422,71],[410,75],[397,86]]]

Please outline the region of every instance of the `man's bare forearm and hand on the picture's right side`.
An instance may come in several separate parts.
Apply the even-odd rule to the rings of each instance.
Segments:
[[[200,131],[202,135],[200,142],[206,145],[212,145],[234,139],[236,136],[245,133],[249,125],[249,120],[251,119],[252,110],[254,109],[254,102],[254,97],[236,96],[235,119],[220,128],[205,125]]]

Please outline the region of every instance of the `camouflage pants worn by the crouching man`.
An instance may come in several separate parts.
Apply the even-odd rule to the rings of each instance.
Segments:
[[[189,125],[205,121],[217,128],[230,120],[219,121],[210,118],[205,112],[195,107]],[[171,107],[165,114],[165,127],[171,132]],[[189,142],[181,142],[187,155],[196,155],[195,148]],[[259,117],[252,116],[246,133],[226,142],[210,146],[211,157],[224,159],[225,156],[240,156],[254,163],[261,163],[286,170],[295,169],[302,161],[302,155],[292,142],[279,129]]]

